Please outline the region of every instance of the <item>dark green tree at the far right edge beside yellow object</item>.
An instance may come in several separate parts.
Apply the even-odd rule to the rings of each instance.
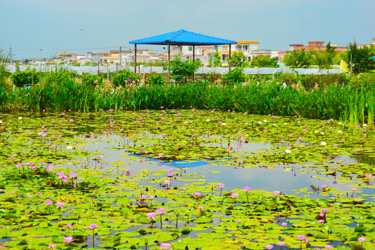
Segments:
[[[348,53],[346,62],[349,65],[350,62],[353,63],[353,72],[368,72],[369,69],[375,69],[375,61],[372,60],[372,48],[369,47],[357,47],[357,42],[354,40],[353,43],[348,44]]]

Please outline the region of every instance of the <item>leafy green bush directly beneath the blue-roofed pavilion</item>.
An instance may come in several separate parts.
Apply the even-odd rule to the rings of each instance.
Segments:
[[[176,56],[169,65],[171,78],[176,82],[181,82],[185,76],[192,77],[199,68],[198,63],[193,63],[192,60],[181,62],[181,56]]]

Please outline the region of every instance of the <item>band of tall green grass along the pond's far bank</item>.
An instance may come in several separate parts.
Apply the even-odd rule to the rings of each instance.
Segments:
[[[78,78],[61,80],[44,77],[29,88],[13,88],[5,77],[0,83],[3,112],[23,110],[160,109],[200,108],[236,110],[251,114],[341,119],[353,123],[372,123],[375,115],[375,85],[353,88],[338,84],[309,92],[282,88],[276,82],[254,83],[222,88],[210,83],[154,85],[115,88],[104,80],[96,87]]]

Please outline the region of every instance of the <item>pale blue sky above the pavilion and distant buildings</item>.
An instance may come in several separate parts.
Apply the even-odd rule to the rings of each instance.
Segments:
[[[43,58],[62,50],[108,52],[181,28],[256,40],[260,49],[315,40],[369,44],[374,11],[374,0],[0,0],[0,48],[7,53],[12,46],[16,59],[39,58],[39,49]],[[151,49],[163,53],[163,47]]]

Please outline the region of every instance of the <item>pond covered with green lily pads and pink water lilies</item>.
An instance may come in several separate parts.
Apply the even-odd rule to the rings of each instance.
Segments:
[[[374,124],[0,116],[0,248],[375,249]]]

